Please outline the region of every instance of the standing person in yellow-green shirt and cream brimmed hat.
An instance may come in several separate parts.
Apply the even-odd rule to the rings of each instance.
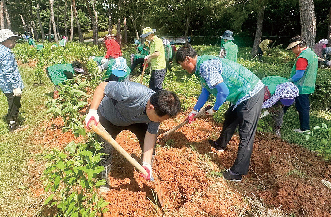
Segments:
[[[166,57],[163,42],[161,38],[154,35],[156,29],[145,27],[141,38],[150,41],[150,55],[145,56],[145,60],[150,61],[152,66],[151,79],[149,80],[149,88],[154,91],[163,90],[162,82],[166,76]]]

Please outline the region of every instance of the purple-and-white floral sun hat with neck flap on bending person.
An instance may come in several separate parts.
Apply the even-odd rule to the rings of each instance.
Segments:
[[[292,82],[285,82],[276,86],[275,93],[262,104],[262,108],[270,108],[279,100],[284,106],[291,106],[299,96],[298,87]]]

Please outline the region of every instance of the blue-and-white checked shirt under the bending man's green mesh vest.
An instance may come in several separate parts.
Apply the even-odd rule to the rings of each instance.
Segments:
[[[195,68],[195,71],[197,71],[198,68]],[[223,72],[223,66],[221,61],[219,60],[207,60],[203,62],[200,65],[199,73],[201,77],[203,77],[208,84],[208,87],[210,89],[215,88],[214,85],[217,84],[220,81],[223,81],[223,78],[221,76]],[[237,77],[238,74],[235,74],[235,71],[229,71],[226,73],[231,73],[232,77]],[[253,72],[252,72],[253,73]],[[244,97],[240,98],[233,109],[235,109],[241,102],[248,100],[249,98],[253,97],[255,94],[257,94],[262,88],[264,88],[264,85],[262,81],[259,80],[259,82],[253,87],[253,89],[248,92]]]

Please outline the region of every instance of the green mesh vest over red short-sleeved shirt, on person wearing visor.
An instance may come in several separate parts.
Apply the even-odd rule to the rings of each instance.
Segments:
[[[305,70],[304,76],[293,83],[297,85],[299,93],[313,93],[315,91],[317,75],[317,55],[310,48],[303,50],[295,60],[290,78],[296,73],[296,64],[300,57],[305,58],[308,61],[308,66]]]

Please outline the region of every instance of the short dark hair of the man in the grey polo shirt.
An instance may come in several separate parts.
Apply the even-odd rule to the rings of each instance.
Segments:
[[[178,96],[168,90],[161,90],[154,93],[149,101],[154,106],[155,113],[159,117],[165,115],[169,115],[170,118],[176,117],[181,109]]]

